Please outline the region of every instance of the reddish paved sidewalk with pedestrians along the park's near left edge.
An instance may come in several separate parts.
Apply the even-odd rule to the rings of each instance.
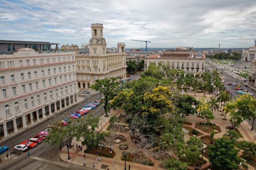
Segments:
[[[117,110],[111,110],[111,112],[108,114],[108,117],[104,117],[104,115],[101,116],[100,119],[103,121],[103,126],[102,126],[103,131],[106,131],[106,128],[108,127],[108,124],[109,124],[108,121],[111,118],[111,116],[114,116],[114,115],[118,116],[122,113],[124,113],[123,110],[117,109]],[[128,144],[128,142],[123,142],[122,144],[124,143]],[[76,139],[73,139],[72,145],[76,146],[76,144],[82,146],[81,141],[76,141]],[[101,160],[101,163],[98,163],[98,165],[96,163],[96,155],[86,153],[85,154],[86,167],[92,168],[92,163],[94,162],[96,170],[102,170],[102,169],[106,170],[108,167],[110,170],[124,169],[124,161],[121,160],[122,156],[118,156],[118,155],[122,155],[122,151],[119,149],[119,145],[120,144],[118,143],[114,144],[114,151],[116,152],[116,156],[114,158],[107,158],[107,157],[101,156],[102,160]],[[83,166],[84,149],[85,147],[83,147],[82,151],[76,151],[75,147],[73,147],[72,149],[69,149],[69,155],[71,157],[71,161],[68,162],[68,149],[67,147],[63,147],[62,151],[60,151],[59,153],[60,159],[64,162]],[[127,151],[130,151],[130,149],[128,149]],[[113,166],[112,166],[112,161],[114,161]],[[154,162],[154,166],[146,166],[138,163],[126,162],[126,168],[128,170],[128,166],[130,165],[132,170],[163,170],[162,168],[158,168],[158,163],[157,161],[155,161],[155,159],[153,159],[152,161]]]

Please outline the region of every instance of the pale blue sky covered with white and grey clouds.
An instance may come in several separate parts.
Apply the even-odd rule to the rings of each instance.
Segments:
[[[256,0],[0,0],[0,39],[88,43],[103,23],[108,47],[249,47]]]

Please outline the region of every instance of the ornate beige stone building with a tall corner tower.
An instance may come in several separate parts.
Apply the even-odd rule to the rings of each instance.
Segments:
[[[92,38],[89,41],[89,54],[76,53],[76,78],[78,88],[90,88],[97,79],[106,77],[125,77],[125,43],[117,43],[117,52],[108,53],[103,37],[103,25],[92,23]]]

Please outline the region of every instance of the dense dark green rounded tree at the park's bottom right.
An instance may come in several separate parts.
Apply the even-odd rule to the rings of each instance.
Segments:
[[[240,163],[238,152],[234,141],[226,138],[215,139],[213,145],[208,146],[209,161],[216,170],[238,169]]]

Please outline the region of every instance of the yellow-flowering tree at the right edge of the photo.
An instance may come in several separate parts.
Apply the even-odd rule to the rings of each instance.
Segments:
[[[251,119],[255,116],[256,99],[246,94],[241,95],[237,100],[228,103],[224,107],[225,113],[230,113],[229,121],[232,128],[240,127],[241,123],[246,119]]]

